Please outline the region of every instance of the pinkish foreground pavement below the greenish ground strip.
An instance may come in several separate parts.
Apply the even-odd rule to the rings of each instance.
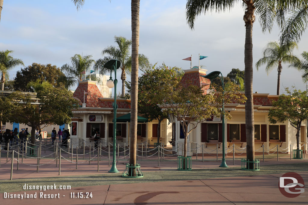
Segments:
[[[299,173],[308,182],[308,173]],[[164,181],[154,183],[112,184],[74,187],[71,190],[47,190],[43,194],[58,194],[60,199],[4,199],[0,204],[307,204],[306,191],[296,198],[283,196],[278,189],[281,175],[229,177],[191,181]],[[91,192],[92,198],[71,199],[71,192]],[[24,194],[25,192],[14,192]],[[35,191],[26,191],[34,194]],[[63,196],[64,195],[64,196]]]

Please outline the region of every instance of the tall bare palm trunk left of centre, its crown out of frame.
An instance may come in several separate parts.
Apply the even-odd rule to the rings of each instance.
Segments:
[[[132,0],[132,84],[131,84],[131,129],[130,129],[130,150],[129,164],[137,164],[137,112],[138,112],[138,53],[139,53],[139,8],[140,0]],[[136,169],[130,170],[133,176]]]

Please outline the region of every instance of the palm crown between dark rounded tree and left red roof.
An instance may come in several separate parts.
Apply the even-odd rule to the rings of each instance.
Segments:
[[[87,71],[91,69],[92,64],[95,63],[91,55],[82,56],[80,54],[71,57],[71,62],[72,65],[65,64],[61,67],[69,85],[75,85],[78,81],[82,81]]]

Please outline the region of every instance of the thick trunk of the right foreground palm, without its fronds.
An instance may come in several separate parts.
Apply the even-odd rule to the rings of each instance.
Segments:
[[[253,1],[247,3],[247,8],[244,15],[246,35],[245,35],[245,121],[246,121],[246,140],[247,140],[247,160],[254,160],[254,116],[253,116],[253,44],[252,44],[252,29],[255,7]],[[248,164],[247,164],[248,165]],[[250,168],[251,168],[250,164]]]

